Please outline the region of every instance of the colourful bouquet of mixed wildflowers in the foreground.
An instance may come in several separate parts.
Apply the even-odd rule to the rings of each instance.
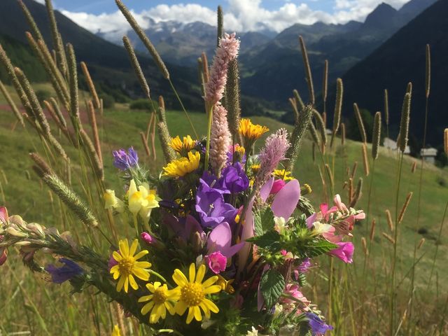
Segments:
[[[16,246],[31,271],[54,283],[69,281],[73,293],[97,288],[152,335],[332,330],[305,296],[307,272],[319,255],[352,261],[349,239],[363,211],[346,207],[339,195],[332,207],[321,204],[314,211],[304,197],[311,188],[300,186],[291,172],[311,106],[303,106],[291,134],[277,130],[258,146],[267,127],[240,119],[235,109],[228,116],[223,94],[238,50],[235,34],[225,34],[203,74],[207,137],[169,137],[161,107],[158,130],[166,165],[160,174],[149,174],[133,148],[113,152],[124,191],[105,190],[104,212],[129,225],[126,235],[111,239],[101,231],[85,203],[34,156],[43,181],[80,221],[100,230],[109,251],[8,216],[2,207],[0,265]],[[54,261],[42,265],[38,253]],[[119,328],[113,335],[120,335]]]

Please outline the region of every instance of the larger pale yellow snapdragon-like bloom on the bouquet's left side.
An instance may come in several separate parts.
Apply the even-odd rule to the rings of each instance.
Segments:
[[[149,189],[149,186],[145,183],[139,186],[134,180],[131,180],[129,190],[127,192],[127,202],[129,210],[137,216],[139,214],[144,220],[151,216],[151,211],[154,208],[159,207],[160,197],[155,193],[155,190]]]

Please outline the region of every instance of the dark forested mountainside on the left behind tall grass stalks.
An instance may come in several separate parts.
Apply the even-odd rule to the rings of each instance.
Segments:
[[[23,0],[33,15],[36,24],[48,45],[52,46],[50,28],[45,6],[33,0]],[[124,48],[96,36],[90,31],[76,25],[64,15],[55,11],[59,31],[64,43],[72,43],[78,62],[87,62],[92,78],[100,91],[113,94],[116,99],[141,95],[139,83],[134,75],[129,57]],[[29,26],[16,0],[0,1],[0,34],[27,44],[25,31]],[[153,94],[165,96],[167,104],[176,103],[176,99],[167,80],[162,78],[153,60],[146,56],[139,57],[142,69],[149,78]],[[184,104],[200,109],[202,98],[197,85],[197,74],[193,69],[167,64],[176,89],[181,92]],[[80,80],[80,85],[83,81]],[[157,97],[157,96],[155,96]],[[179,106],[176,106],[179,107]]]

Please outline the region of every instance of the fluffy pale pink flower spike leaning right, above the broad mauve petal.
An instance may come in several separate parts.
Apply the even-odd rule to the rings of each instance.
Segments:
[[[288,141],[288,131],[284,128],[277,130],[267,137],[265,146],[258,154],[260,170],[258,170],[258,173],[255,176],[255,184],[257,188],[261,188],[279,163],[288,158],[286,155],[290,146],[290,142]]]

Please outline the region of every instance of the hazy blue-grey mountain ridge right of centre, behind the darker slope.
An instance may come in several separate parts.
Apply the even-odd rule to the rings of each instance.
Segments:
[[[315,90],[320,92],[325,59],[329,61],[329,83],[334,83],[337,77],[370,55],[395,31],[434,2],[411,0],[400,10],[381,3],[363,23],[293,25],[256,52],[241,55],[241,90],[248,95],[274,101],[279,107],[287,106],[293,89],[297,89],[306,100],[307,83],[304,80],[299,35],[303,36],[307,45]]]

